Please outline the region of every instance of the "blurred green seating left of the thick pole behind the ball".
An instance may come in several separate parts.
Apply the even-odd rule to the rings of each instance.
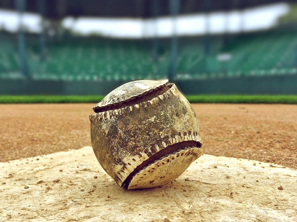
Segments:
[[[151,52],[142,41],[72,39],[51,44],[45,62],[34,51],[29,53],[34,79],[126,81],[167,75],[167,70],[162,70],[164,65],[153,63]]]

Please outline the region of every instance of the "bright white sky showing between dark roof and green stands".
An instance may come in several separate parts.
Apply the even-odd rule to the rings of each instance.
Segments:
[[[280,16],[289,11],[287,3],[277,3],[243,11],[213,12],[206,14],[159,17],[158,19],[88,18],[67,17],[61,24],[67,30],[80,35],[100,34],[116,38],[194,36],[238,33],[272,28]],[[24,13],[22,23],[26,31],[39,33],[42,18],[38,14]],[[208,25],[207,25],[208,24]],[[20,26],[20,15],[16,11],[0,10],[0,30],[16,32]]]

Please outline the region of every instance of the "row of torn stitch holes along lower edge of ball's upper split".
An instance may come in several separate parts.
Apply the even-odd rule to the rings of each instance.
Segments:
[[[149,106],[154,107],[162,102],[166,102],[166,100],[169,100],[172,98],[176,92],[177,88],[174,84],[171,85],[170,89],[168,89],[163,94],[160,94],[151,100],[141,102],[139,104],[133,104],[130,106],[120,107],[118,109],[113,110],[107,110],[103,112],[93,113],[89,115],[90,122],[97,122],[101,119],[113,119],[118,118],[119,115],[131,115],[133,112],[137,111],[138,109],[142,108],[144,110],[148,109]]]

